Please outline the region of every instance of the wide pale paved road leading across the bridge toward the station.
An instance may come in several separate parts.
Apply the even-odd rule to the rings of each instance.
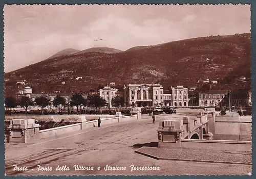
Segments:
[[[156,146],[159,119],[170,115],[142,116],[141,120],[117,123],[113,126],[94,127],[94,130],[72,137],[32,146],[6,148],[7,175],[181,175],[181,174],[248,174],[250,165],[212,164],[197,162],[162,161],[148,158],[134,151],[141,146]],[[183,115],[183,114],[182,114]],[[13,165],[27,167],[27,171],[13,171]],[[52,171],[37,171],[40,165]],[[66,169],[65,166],[66,165]],[[74,166],[88,170],[76,170]],[[106,165],[126,170],[104,170]],[[131,165],[155,167],[160,170],[135,170]],[[56,171],[60,166],[64,171]],[[69,170],[67,170],[69,167]],[[93,167],[93,170],[92,170]],[[98,170],[100,167],[100,170]],[[84,168],[84,169],[85,169]],[[119,169],[120,169],[119,168]],[[113,168],[112,168],[113,169]]]

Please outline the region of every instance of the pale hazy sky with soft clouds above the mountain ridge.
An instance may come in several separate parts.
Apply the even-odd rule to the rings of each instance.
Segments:
[[[9,72],[65,48],[126,50],[248,33],[250,5],[5,5],[4,25],[4,63]]]

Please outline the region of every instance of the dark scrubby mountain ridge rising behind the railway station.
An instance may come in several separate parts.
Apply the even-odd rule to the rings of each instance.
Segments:
[[[95,90],[110,81],[192,86],[201,79],[224,83],[226,78],[243,75],[250,78],[250,33],[186,39],[114,54],[71,54],[5,73],[7,79],[24,79],[37,90],[38,84],[45,90],[63,90],[57,86],[65,78],[66,91]],[[74,80],[77,76],[82,79]]]

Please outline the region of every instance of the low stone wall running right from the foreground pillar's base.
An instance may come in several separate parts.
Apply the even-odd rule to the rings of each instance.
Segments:
[[[182,139],[182,148],[251,151],[250,141]]]

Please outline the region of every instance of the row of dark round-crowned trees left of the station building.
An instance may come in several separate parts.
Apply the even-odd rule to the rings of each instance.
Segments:
[[[119,107],[123,106],[124,100],[123,97],[116,96],[111,101],[112,106]],[[7,97],[5,98],[5,107],[9,108],[10,111],[12,108],[15,108],[17,106],[20,106],[25,109],[26,114],[27,110],[30,106],[38,106],[41,108],[41,112],[43,113],[44,109],[51,105],[51,99],[50,96],[38,96],[35,98],[34,101],[31,100],[31,98],[27,96],[22,96],[19,101],[16,100],[14,97]],[[104,107],[106,105],[105,99],[99,96],[88,96],[87,99],[85,99],[81,94],[75,93],[70,97],[69,101],[66,101],[66,99],[60,95],[56,95],[53,99],[53,106],[58,108],[59,111],[62,110],[63,107],[76,107],[77,113],[78,109],[81,106],[88,106],[88,107],[94,107],[96,109]]]

